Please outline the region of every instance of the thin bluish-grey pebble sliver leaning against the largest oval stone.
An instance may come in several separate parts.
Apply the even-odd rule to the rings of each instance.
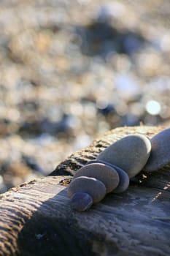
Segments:
[[[112,191],[114,193],[122,193],[124,192],[126,189],[128,189],[128,186],[129,186],[129,178],[128,178],[128,174],[125,173],[124,170],[122,170],[120,167],[117,167],[115,165],[112,165],[110,164],[109,162],[104,162],[102,160],[90,160],[86,165],[89,165],[89,164],[92,164],[92,163],[95,163],[95,162],[98,162],[98,163],[103,163],[105,165],[109,165],[111,167],[114,167],[115,170],[117,170],[117,173],[119,175],[119,184],[118,186]]]

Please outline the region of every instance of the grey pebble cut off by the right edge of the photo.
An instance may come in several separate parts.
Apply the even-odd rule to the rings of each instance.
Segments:
[[[152,150],[144,170],[152,172],[170,163],[170,128],[163,129],[150,140]]]

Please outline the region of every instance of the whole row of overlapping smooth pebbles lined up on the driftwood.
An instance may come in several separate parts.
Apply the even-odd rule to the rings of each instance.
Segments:
[[[128,135],[117,140],[77,170],[69,184],[68,196],[77,211],[85,211],[110,192],[128,189],[129,180],[141,170],[153,172],[170,162],[170,128],[149,140],[144,135]]]

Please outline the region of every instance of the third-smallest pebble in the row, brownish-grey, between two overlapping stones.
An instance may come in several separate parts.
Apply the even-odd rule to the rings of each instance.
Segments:
[[[107,193],[112,192],[112,190],[115,189],[120,182],[119,175],[113,166],[99,162],[81,167],[75,173],[74,178],[80,176],[97,178],[99,181],[104,183],[105,187],[107,188]]]

